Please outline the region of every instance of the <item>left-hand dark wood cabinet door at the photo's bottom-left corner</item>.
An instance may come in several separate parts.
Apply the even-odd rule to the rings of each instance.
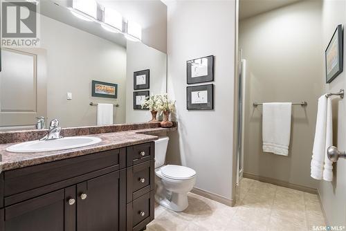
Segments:
[[[1,226],[6,231],[75,230],[75,186],[5,207]]]

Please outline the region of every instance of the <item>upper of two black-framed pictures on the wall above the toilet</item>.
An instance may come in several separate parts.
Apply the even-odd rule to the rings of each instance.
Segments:
[[[192,59],[186,62],[188,84],[214,80],[214,55]]]

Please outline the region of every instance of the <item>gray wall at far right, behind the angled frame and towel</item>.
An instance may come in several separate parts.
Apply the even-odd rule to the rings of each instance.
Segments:
[[[322,48],[327,48],[331,36],[338,24],[346,24],[346,2],[345,1],[323,1],[322,11]],[[344,32],[344,41],[345,40]],[[323,53],[324,54],[324,53]],[[322,81],[325,83],[325,63],[324,55],[320,55],[323,60]],[[345,45],[344,45],[344,71],[331,84],[324,84],[325,93],[346,89],[345,82]],[[334,145],[340,151],[346,150],[346,100],[334,98],[333,100],[333,125],[334,125]],[[320,181],[318,191],[322,201],[327,221],[329,225],[346,225],[346,160],[340,159],[334,163],[334,179],[331,183]]]

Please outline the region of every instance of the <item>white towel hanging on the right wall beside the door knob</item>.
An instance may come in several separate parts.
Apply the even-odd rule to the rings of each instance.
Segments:
[[[311,177],[333,181],[333,165],[327,157],[327,149],[333,144],[331,99],[322,95],[318,99],[315,139],[311,160]]]

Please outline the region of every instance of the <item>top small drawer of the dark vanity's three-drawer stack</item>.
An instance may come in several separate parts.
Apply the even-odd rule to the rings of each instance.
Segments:
[[[127,147],[127,166],[154,159],[154,142]]]

